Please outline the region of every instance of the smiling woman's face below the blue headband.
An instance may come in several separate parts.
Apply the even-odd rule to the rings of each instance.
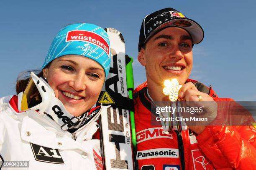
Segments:
[[[55,97],[74,116],[82,115],[97,102],[105,80],[102,66],[80,55],[64,55],[53,60],[43,74]]]

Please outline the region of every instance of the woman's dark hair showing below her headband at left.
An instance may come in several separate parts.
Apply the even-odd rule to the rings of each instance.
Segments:
[[[29,73],[31,71],[33,71],[38,77],[43,77],[43,71],[41,69],[21,72],[18,75],[17,82],[16,82],[16,87],[15,87],[17,95],[20,92],[23,92],[26,89],[26,86],[28,84],[28,80],[30,78]]]

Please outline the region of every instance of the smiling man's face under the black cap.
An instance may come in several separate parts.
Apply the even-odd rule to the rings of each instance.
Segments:
[[[148,83],[162,86],[164,80],[177,78],[183,85],[192,70],[192,38],[182,28],[165,28],[141,48],[138,61],[146,68]]]

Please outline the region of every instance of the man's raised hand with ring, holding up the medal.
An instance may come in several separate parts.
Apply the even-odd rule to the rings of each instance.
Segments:
[[[206,125],[209,125],[217,116],[217,103],[204,92],[197,90],[192,82],[188,82],[182,86],[179,91],[182,107],[201,107],[202,112],[182,112],[183,117],[207,118],[207,121],[186,121],[188,127],[197,135],[202,133]],[[207,102],[206,102],[207,101]],[[189,119],[190,120],[190,119]]]

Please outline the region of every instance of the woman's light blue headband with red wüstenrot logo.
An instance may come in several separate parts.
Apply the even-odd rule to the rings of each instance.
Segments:
[[[73,24],[62,28],[51,43],[42,69],[63,55],[82,55],[97,61],[108,76],[110,42],[107,32],[93,24]]]

